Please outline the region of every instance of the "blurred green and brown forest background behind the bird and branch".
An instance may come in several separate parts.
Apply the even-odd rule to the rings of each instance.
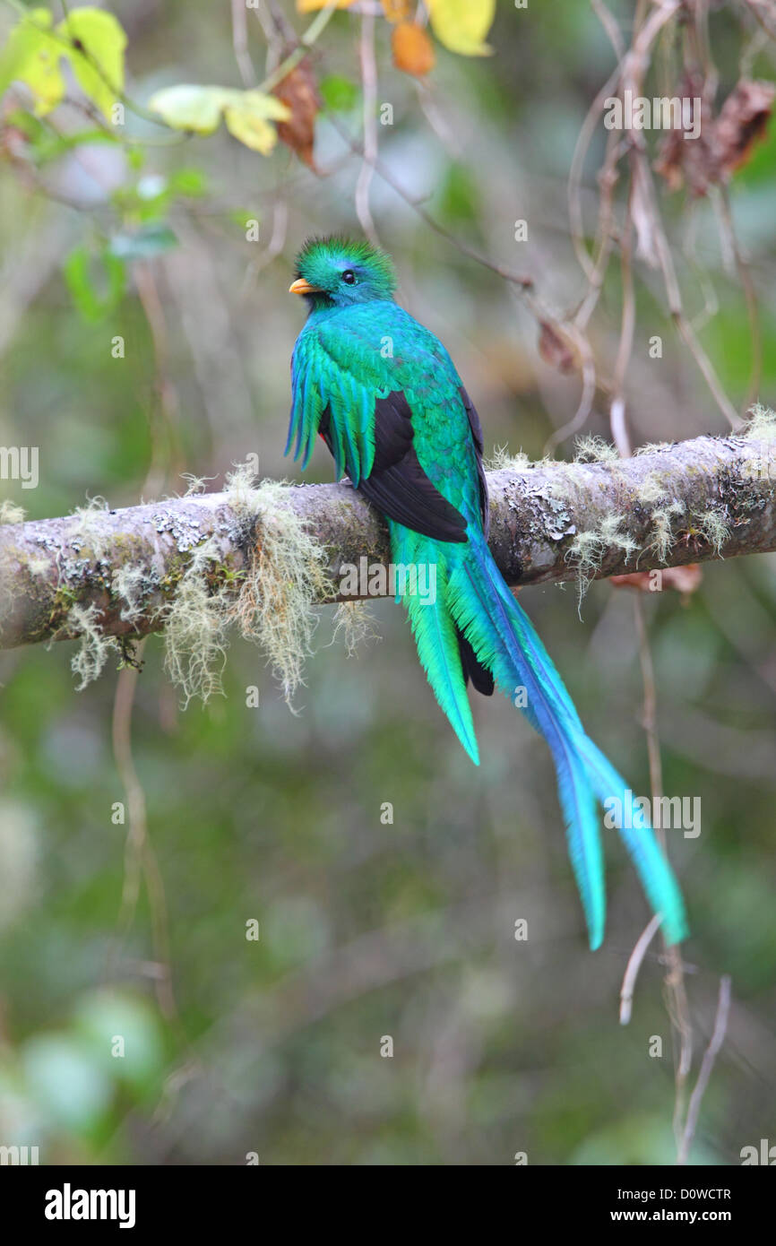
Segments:
[[[590,295],[577,252],[594,255],[600,237],[600,115],[572,187],[577,249],[572,238],[574,151],[618,61],[600,17],[627,47],[650,5],[620,0],[602,14],[580,0],[499,0],[492,55],[461,55],[432,31],[436,64],[423,74],[394,64],[406,52],[381,5],[353,5],[313,47],[311,156],[303,141],[264,156],[223,126],[187,137],[144,110],[178,83],[257,86],[315,11],[290,0],[103,7],[127,32],[137,105],[120,138],[106,137],[72,77],[46,116],[20,86],[2,102],[0,444],[40,447],[40,482],[1,486],[30,518],[95,496],[121,507],[182,492],[182,472],[217,490],[249,454],[260,475],[298,478],[282,452],[304,309],[286,290],[311,233],[366,228],[392,253],[400,299],[451,351],[488,454],[541,457],[549,444],[570,457],[573,434],[612,440],[623,254],[634,248],[620,386],[632,445],[724,434],[726,404],[772,402],[767,118],[735,173],[729,161],[700,191],[689,174],[679,186],[654,173],[698,351],[668,314],[627,153],[612,259]],[[646,93],[675,93],[694,71],[716,116],[742,77],[772,82],[764,7],[686,5],[698,25],[688,11],[658,34]],[[21,9],[0,6],[4,39]],[[371,177],[365,111],[380,162]],[[644,136],[650,168],[660,138]],[[532,277],[536,302],[471,252]],[[548,318],[570,363],[542,335]],[[575,335],[563,330],[572,323]],[[331,478],[324,450],[306,478]],[[720,977],[732,981],[690,1161],[737,1164],[741,1148],[776,1143],[776,562],[707,563],[684,596],[594,583],[582,617],[575,586],[521,599],[590,735],[649,794],[640,603],[665,790],[703,806],[698,839],[669,836],[693,931],[689,1088]],[[480,698],[483,760],[472,768],[401,611],[375,602],[371,613],[375,635],[349,655],[321,609],[295,713],[237,637],[223,698],[184,711],[158,637],[140,675],[112,662],[81,693],[71,644],[0,654],[0,1144],[77,1164],[673,1161],[658,941],[633,1019],[618,1024],[649,917],[620,845],[607,835],[608,932],[592,954],[543,741],[506,701]],[[258,708],[247,706],[250,685]],[[527,941],[516,939],[521,920]],[[650,1055],[655,1037],[661,1055]]]

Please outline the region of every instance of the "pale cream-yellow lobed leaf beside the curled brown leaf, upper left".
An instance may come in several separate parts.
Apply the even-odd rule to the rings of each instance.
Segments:
[[[245,147],[268,156],[278,140],[273,121],[288,121],[290,111],[263,91],[230,91],[222,86],[171,86],[148,101],[148,107],[173,130],[212,135],[223,117],[229,132]]]

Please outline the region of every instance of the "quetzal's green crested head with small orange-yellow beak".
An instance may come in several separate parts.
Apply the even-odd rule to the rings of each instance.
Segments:
[[[311,309],[346,308],[390,299],[394,264],[385,252],[350,238],[310,238],[296,257],[291,294],[304,294]]]

